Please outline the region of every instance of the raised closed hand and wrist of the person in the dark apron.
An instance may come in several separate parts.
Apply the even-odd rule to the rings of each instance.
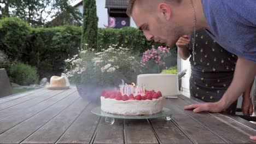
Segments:
[[[190,57],[190,53],[189,53],[188,46],[187,46],[188,44],[189,44],[188,35],[183,35],[176,42],[176,45],[178,46],[179,56],[184,60],[186,60]]]

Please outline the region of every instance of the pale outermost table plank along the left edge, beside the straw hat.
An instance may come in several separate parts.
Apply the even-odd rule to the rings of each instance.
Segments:
[[[25,101],[32,100],[36,97],[40,97],[41,95],[44,95],[44,94],[49,93],[51,91],[53,91],[53,90],[45,89],[45,91],[40,91],[38,93],[33,93],[33,94],[30,94],[30,95],[26,95],[26,97],[21,97],[19,99],[10,100],[6,103],[0,104],[0,111],[4,110],[4,109],[7,109],[8,107],[24,103]]]

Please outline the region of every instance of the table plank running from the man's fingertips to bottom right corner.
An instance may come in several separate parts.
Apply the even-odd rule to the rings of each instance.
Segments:
[[[172,100],[172,104],[176,104],[181,110],[183,110],[183,107],[186,105],[189,105],[187,101],[184,101],[182,99],[175,99]],[[242,131],[241,129],[237,128],[237,125],[240,125],[238,123],[233,123],[234,125],[223,121],[222,119],[219,119],[217,117],[213,117],[212,115],[209,115],[207,112],[201,112],[201,113],[194,113],[192,110],[184,111],[189,116],[191,116],[195,121],[201,123],[209,130],[213,131],[214,134],[221,137],[223,140],[227,142],[238,142],[238,143],[251,143],[255,142],[249,139],[249,135],[247,133],[250,131],[249,129],[246,131]],[[255,133],[256,131],[251,130],[251,134]]]

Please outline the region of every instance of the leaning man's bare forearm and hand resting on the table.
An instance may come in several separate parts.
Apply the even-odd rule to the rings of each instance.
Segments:
[[[231,105],[243,92],[245,92],[246,88],[249,87],[254,80],[255,75],[256,63],[248,61],[245,58],[238,57],[233,80],[228,90],[224,93],[222,99],[216,103],[203,103],[185,106],[184,109],[194,109],[194,112],[223,111],[229,107],[229,105]]]

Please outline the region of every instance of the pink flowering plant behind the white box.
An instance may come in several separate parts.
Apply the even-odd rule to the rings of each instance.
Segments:
[[[143,53],[141,63],[146,69],[157,66],[158,73],[160,73],[160,70],[166,67],[166,58],[169,56],[171,56],[170,48],[159,46],[158,49],[155,49],[153,45],[152,49]]]

